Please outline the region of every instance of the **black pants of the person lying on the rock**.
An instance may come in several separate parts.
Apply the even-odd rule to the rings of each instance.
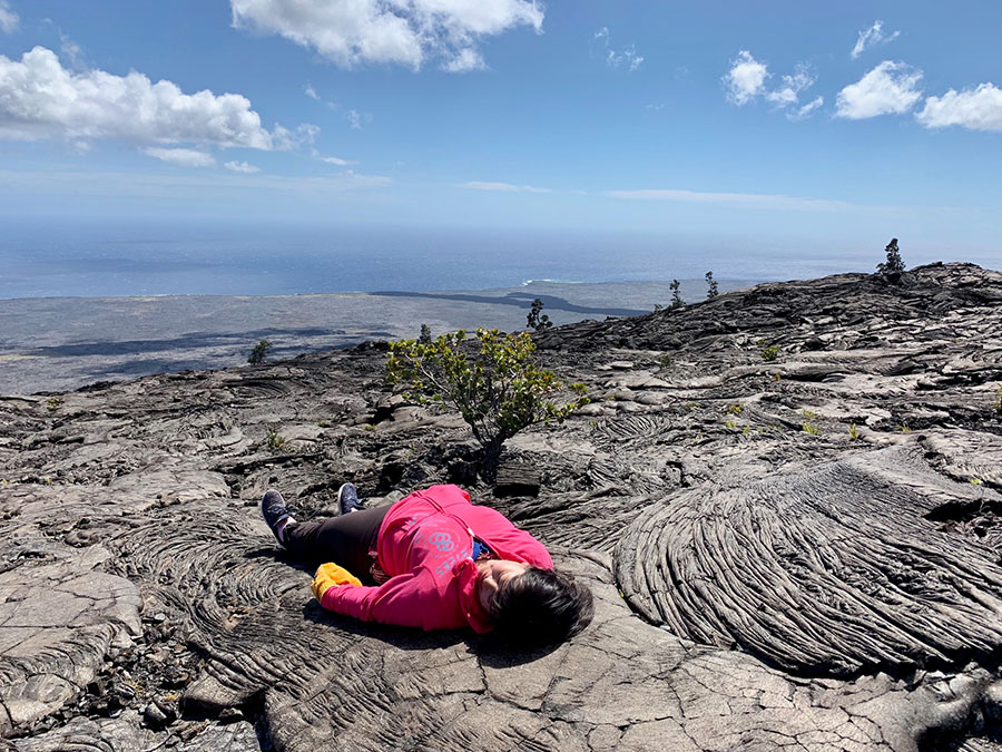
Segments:
[[[360,509],[341,517],[292,523],[282,534],[286,549],[297,558],[325,564],[334,561],[358,579],[372,579],[380,525],[390,507]]]

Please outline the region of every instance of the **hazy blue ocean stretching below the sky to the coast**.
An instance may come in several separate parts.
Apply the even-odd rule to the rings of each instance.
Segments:
[[[872,271],[878,256],[584,231],[0,219],[0,299],[487,290],[707,271],[789,280]]]

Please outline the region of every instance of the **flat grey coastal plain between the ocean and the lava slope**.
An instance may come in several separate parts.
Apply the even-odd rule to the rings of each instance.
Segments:
[[[246,363],[261,340],[271,359],[369,340],[477,326],[525,329],[534,297],[554,325],[649,313],[671,297],[668,282],[554,283],[444,292],[301,295],[141,295],[0,300],[0,394],[70,391],[98,381]],[[720,280],[720,292],[750,280]],[[703,280],[681,282],[697,302]]]

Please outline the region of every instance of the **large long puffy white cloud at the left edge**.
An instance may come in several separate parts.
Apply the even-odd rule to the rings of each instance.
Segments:
[[[237,94],[184,94],[171,81],[153,84],[136,71],[73,74],[43,47],[26,52],[20,62],[0,55],[0,139],[61,136],[287,149],[315,134],[315,126],[268,131]]]

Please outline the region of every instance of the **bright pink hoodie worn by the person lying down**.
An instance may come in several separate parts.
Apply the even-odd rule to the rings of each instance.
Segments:
[[[380,566],[390,579],[379,587],[337,585],[324,608],[363,622],[424,629],[493,628],[477,598],[473,536],[498,558],[552,569],[550,554],[531,535],[489,507],[475,507],[458,486],[432,486],[394,504],[380,526]]]

